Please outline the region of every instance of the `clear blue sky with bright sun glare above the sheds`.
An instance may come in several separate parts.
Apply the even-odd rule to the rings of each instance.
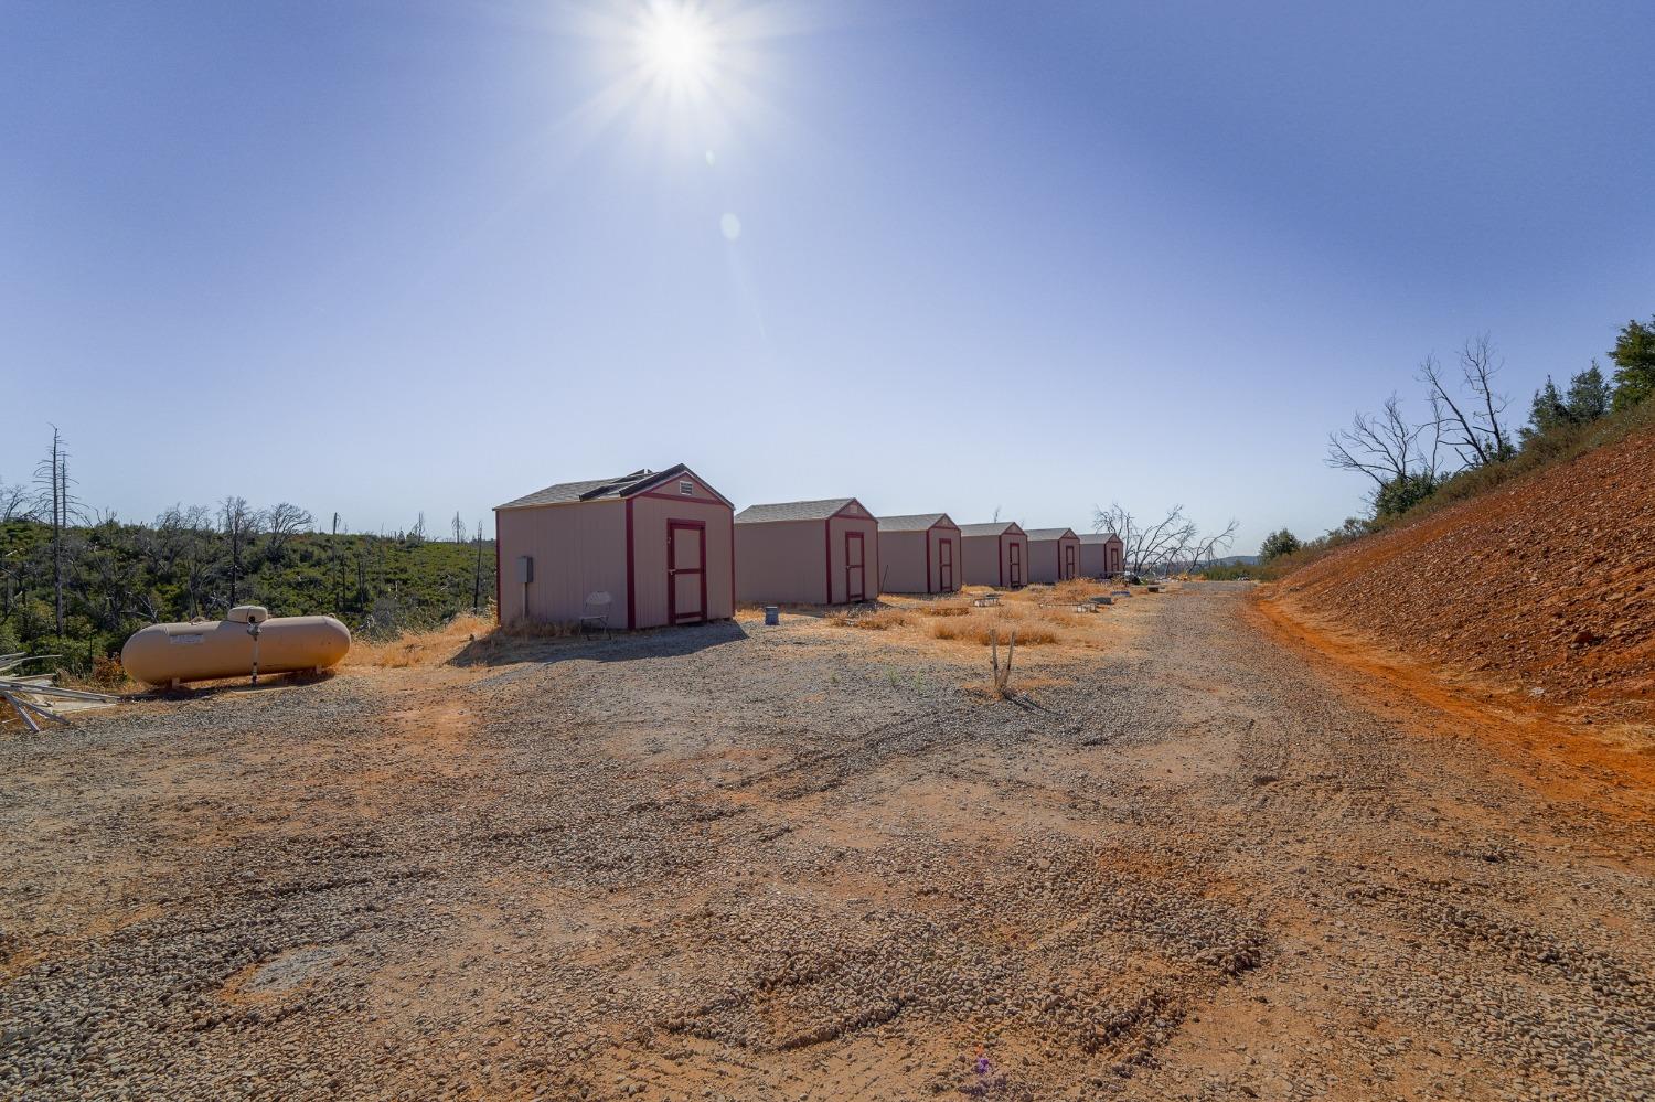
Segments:
[[[56,422],[127,518],[688,462],[1251,551],[1427,352],[1518,417],[1655,313],[1647,5],[697,10],[685,88],[639,5],[0,0],[0,478]]]

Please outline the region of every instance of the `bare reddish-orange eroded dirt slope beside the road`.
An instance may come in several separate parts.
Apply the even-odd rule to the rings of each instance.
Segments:
[[[1655,715],[1655,432],[1336,551],[1299,619],[1528,698]]]

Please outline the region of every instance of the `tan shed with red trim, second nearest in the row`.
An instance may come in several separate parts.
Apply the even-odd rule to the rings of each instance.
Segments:
[[[750,505],[735,518],[735,592],[753,604],[879,596],[879,521],[856,498]]]

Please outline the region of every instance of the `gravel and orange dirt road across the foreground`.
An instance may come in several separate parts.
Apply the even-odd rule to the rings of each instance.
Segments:
[[[1127,604],[1016,702],[789,620],[0,735],[0,1092],[1655,1094],[1648,791]]]

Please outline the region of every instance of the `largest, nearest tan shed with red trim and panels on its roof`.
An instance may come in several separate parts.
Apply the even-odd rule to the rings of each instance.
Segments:
[[[735,616],[735,506],[685,465],[564,482],[495,508],[501,624],[612,627]],[[602,606],[596,606],[602,607]]]

